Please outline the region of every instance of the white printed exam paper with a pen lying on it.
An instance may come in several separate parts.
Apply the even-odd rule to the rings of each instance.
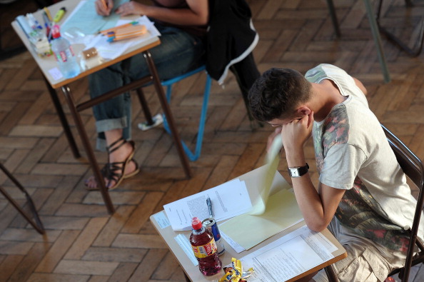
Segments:
[[[246,183],[239,179],[228,181],[206,191],[182,198],[163,206],[173,230],[191,230],[191,219],[197,216],[201,221],[209,217],[206,198],[211,198],[212,211],[216,221],[248,212],[251,199]]]

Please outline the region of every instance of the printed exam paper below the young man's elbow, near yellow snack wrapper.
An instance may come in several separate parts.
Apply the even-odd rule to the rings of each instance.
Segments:
[[[240,259],[243,269],[253,267],[249,282],[281,282],[334,258],[336,247],[307,226],[288,233]]]

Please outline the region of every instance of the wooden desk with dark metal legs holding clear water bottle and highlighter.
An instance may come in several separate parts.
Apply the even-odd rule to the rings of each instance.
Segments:
[[[56,11],[59,11],[61,7],[66,7],[66,14],[64,16],[64,19],[61,20],[61,22],[66,21],[66,17],[71,15],[71,11],[73,11],[76,7],[76,5],[79,3],[78,0],[65,0],[61,1],[57,4],[54,4],[52,6],[49,6],[49,10],[51,11],[51,14],[56,14]],[[44,22],[42,20],[42,11],[36,11],[34,13],[34,16],[36,17],[39,22]],[[173,143],[176,145],[176,148],[178,150],[178,156],[181,159],[181,163],[183,165],[183,169],[186,173],[187,177],[191,177],[191,169],[188,165],[188,159],[186,156],[186,153],[183,151],[183,147],[181,145],[181,140],[178,134],[178,131],[176,131],[175,121],[173,119],[173,116],[171,114],[171,109],[169,108],[168,102],[166,101],[166,96],[163,92],[163,88],[161,86],[161,81],[158,76],[158,72],[156,71],[156,66],[153,62],[153,59],[151,58],[151,54],[148,51],[153,46],[157,46],[161,44],[161,41],[157,36],[152,37],[151,39],[147,41],[143,41],[143,43],[138,44],[137,46],[132,46],[130,49],[126,50],[123,55],[118,56],[118,58],[113,59],[111,61],[106,61],[104,64],[101,64],[100,66],[96,66],[93,69],[89,69],[87,71],[82,71],[79,76],[76,76],[72,79],[59,79],[54,80],[51,74],[49,74],[49,69],[54,68],[57,66],[56,61],[54,59],[54,56],[39,57],[36,52],[34,51],[33,47],[31,46],[31,43],[29,42],[29,39],[26,37],[26,34],[24,31],[21,30],[21,27],[19,24],[14,21],[12,22],[12,26],[14,30],[16,31],[16,34],[18,34],[19,38],[24,42],[24,45],[26,46],[26,49],[30,52],[30,54],[33,56],[34,60],[39,66],[39,69],[44,74],[44,78],[46,79],[46,85],[49,89],[49,93],[51,95],[51,99],[54,103],[54,106],[56,107],[56,111],[59,115],[59,119],[61,121],[62,126],[64,127],[64,132],[66,134],[66,138],[69,141],[69,145],[71,146],[71,150],[74,153],[74,156],[76,158],[79,158],[79,150],[76,147],[76,143],[74,141],[74,136],[71,133],[71,130],[69,129],[68,121],[66,120],[66,116],[64,114],[64,110],[62,109],[62,106],[60,104],[60,101],[58,99],[58,96],[56,94],[55,89],[61,89],[65,99],[66,103],[69,106],[69,109],[71,111],[71,115],[74,119],[74,122],[76,124],[76,127],[78,129],[79,135],[81,137],[81,141],[84,145],[84,149],[86,151],[87,157],[89,158],[89,162],[91,165],[91,169],[93,170],[94,176],[96,177],[97,183],[99,183],[99,188],[102,194],[102,197],[104,199],[104,202],[106,204],[106,208],[108,209],[109,213],[113,213],[114,207],[111,202],[111,198],[108,193],[108,189],[106,188],[106,185],[104,183],[104,178],[101,176],[101,172],[99,169],[99,165],[96,161],[96,156],[94,155],[93,148],[91,148],[91,143],[89,141],[89,137],[86,134],[86,131],[84,129],[84,124],[81,120],[81,116],[79,115],[79,111],[83,111],[85,109],[89,109],[92,106],[101,103],[102,101],[106,101],[108,99],[113,98],[114,96],[118,96],[120,94],[123,94],[126,91],[131,91],[133,89],[140,89],[141,86],[148,84],[149,82],[153,82],[153,85],[155,86],[156,93],[158,94],[159,101],[161,102],[161,106],[163,109],[163,113],[166,116],[166,120],[168,121],[168,125],[170,126],[171,135],[173,138]],[[84,49],[84,46],[73,46],[74,51],[77,53],[78,51],[81,51]],[[107,66],[111,66],[111,64],[115,64],[118,61],[122,61],[123,59],[127,59],[135,54],[142,53],[144,56],[144,59],[146,60],[146,64],[148,64],[148,69],[151,73],[150,76],[143,77],[141,79],[138,79],[137,81],[133,81],[130,84],[127,84],[125,86],[122,86],[118,89],[115,89],[113,91],[109,91],[106,94],[103,94],[102,96],[97,97],[96,99],[91,99],[89,101],[86,101],[81,104],[76,104],[74,101],[74,98],[71,94],[71,89],[69,89],[69,84],[71,82],[77,81],[78,79],[82,79],[89,74],[93,74],[95,71],[99,71],[100,69],[104,69]],[[143,97],[143,94],[141,91],[138,92],[138,98],[141,101],[141,104],[143,106],[143,109],[145,110],[146,114],[146,100]],[[151,119],[151,117],[150,117]]]

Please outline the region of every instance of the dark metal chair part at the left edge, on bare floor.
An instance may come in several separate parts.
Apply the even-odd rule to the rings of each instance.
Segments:
[[[16,201],[11,198],[11,196],[9,195],[9,193],[7,193],[3,187],[0,186],[0,193],[3,194],[3,196],[12,204],[12,206],[14,206],[19,213],[21,213],[22,216],[24,216],[24,218],[26,219],[26,221],[28,221],[31,226],[33,226],[36,231],[38,231],[40,234],[44,234],[44,226],[43,223],[41,223],[40,217],[39,217],[39,213],[37,213],[37,210],[34,206],[34,202],[31,199],[31,196],[29,196],[29,193],[25,190],[24,186],[21,185],[21,183],[19,183],[19,181],[16,180],[16,178],[14,178],[14,176],[3,166],[3,164],[0,163],[0,169],[1,171],[3,171],[7,177],[9,177],[9,179],[19,188],[19,190],[21,190],[22,193],[24,193],[26,201],[29,204],[29,209],[31,210],[32,215],[34,216],[34,220],[33,221],[31,219],[31,216],[29,216],[23,208],[21,208],[21,206],[19,206],[18,203],[16,203]]]

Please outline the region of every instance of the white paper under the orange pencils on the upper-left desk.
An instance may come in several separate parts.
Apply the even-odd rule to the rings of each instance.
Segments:
[[[91,47],[96,47],[99,55],[106,60],[115,59],[118,56],[121,56],[126,49],[130,48],[133,45],[141,44],[141,42],[151,39],[155,36],[160,36],[161,33],[156,29],[153,22],[151,22],[147,16],[141,16],[139,19],[136,19],[139,24],[143,24],[146,26],[147,33],[141,36],[137,36],[133,39],[116,41],[116,42],[108,42],[107,36],[103,36],[101,34],[97,35],[90,44],[86,45],[85,49],[90,49]],[[119,20],[116,26],[121,24],[126,24],[130,22],[130,20]]]

